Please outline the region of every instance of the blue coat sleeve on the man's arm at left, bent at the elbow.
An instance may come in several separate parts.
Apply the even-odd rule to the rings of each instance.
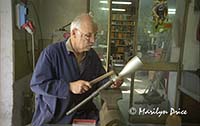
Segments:
[[[69,82],[56,78],[55,53],[46,48],[41,53],[31,79],[31,90],[37,95],[66,99]]]

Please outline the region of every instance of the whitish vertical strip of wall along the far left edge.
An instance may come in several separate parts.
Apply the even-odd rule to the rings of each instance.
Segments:
[[[11,0],[0,0],[0,125],[12,125],[13,36]]]

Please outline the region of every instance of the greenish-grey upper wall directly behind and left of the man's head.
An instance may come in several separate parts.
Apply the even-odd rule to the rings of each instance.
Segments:
[[[51,39],[60,27],[87,12],[87,0],[38,0],[38,7],[43,39]]]

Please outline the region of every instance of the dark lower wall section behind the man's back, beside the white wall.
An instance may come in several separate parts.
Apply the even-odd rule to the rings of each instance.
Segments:
[[[29,74],[14,83],[13,126],[24,126],[31,122],[34,110],[34,95],[29,87],[31,76]]]

